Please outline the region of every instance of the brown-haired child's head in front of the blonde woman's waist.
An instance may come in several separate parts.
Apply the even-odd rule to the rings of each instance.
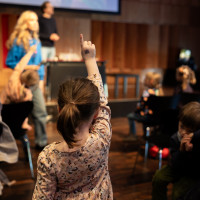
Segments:
[[[21,74],[21,83],[26,87],[31,87],[39,83],[39,75],[35,70],[26,70]]]

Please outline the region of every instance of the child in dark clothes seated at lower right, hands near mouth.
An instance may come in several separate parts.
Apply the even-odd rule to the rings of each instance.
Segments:
[[[173,183],[172,199],[184,196],[200,180],[200,103],[190,102],[180,112],[178,132],[171,137],[170,162],[158,170],[152,182],[152,200],[166,200]],[[194,136],[193,136],[194,135]],[[195,139],[198,144],[195,144]]]

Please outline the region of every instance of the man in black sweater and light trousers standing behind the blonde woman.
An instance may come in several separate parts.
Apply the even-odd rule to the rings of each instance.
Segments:
[[[54,42],[58,41],[60,37],[57,33],[56,21],[52,17],[54,14],[52,4],[49,1],[45,1],[41,5],[41,10],[42,16],[39,17],[39,35],[42,42],[42,60],[46,61],[55,57]]]

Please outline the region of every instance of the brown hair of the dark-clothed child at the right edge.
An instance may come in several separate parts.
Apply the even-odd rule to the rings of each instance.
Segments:
[[[179,121],[192,131],[200,129],[200,103],[193,101],[183,106]]]

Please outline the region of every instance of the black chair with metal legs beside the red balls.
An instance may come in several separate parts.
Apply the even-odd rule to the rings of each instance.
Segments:
[[[145,142],[144,161],[145,162],[147,161],[149,143],[152,143],[155,140],[155,143],[157,143],[158,146],[160,146],[159,167],[161,167],[161,164],[162,164],[162,148],[168,146],[168,144],[165,144],[165,141],[167,141],[169,143],[170,135],[175,133],[178,128],[178,122],[177,122],[177,120],[178,120],[177,112],[178,111],[172,109],[172,108],[176,107],[176,105],[174,105],[174,102],[175,102],[174,96],[154,96],[154,95],[149,96],[148,101],[147,101],[147,106],[149,109],[151,109],[153,111],[153,114],[149,115],[147,120],[138,121],[143,124],[144,131],[145,131],[146,142]],[[175,117],[176,120],[174,120],[174,118],[171,117],[171,115],[173,115],[173,117]],[[171,120],[171,119],[173,119],[173,120]],[[174,123],[175,125],[173,125],[173,126],[169,125],[171,122]],[[166,134],[164,134],[164,136],[155,134],[155,135],[158,135],[158,138],[153,138],[152,134],[150,134],[150,127],[153,127],[154,133],[155,132],[158,133],[159,131],[161,132],[162,130],[164,130],[164,132],[166,132]],[[170,128],[172,130],[169,130]],[[160,144],[156,141],[160,142]],[[135,162],[136,164],[137,164],[137,159],[139,156],[139,151],[140,151],[140,148],[138,149],[136,162]],[[136,168],[136,164],[134,166],[134,170]]]

